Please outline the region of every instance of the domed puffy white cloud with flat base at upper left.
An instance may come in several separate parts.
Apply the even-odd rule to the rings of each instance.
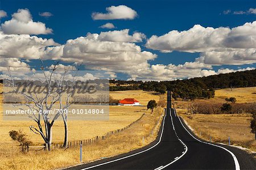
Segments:
[[[52,34],[51,28],[46,28],[42,22],[34,22],[28,9],[19,9],[11,20],[1,24],[1,30],[5,34]]]

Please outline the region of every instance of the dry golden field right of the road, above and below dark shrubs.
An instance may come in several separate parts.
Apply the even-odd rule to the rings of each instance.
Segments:
[[[256,88],[220,89],[215,91],[215,97],[207,100],[195,100],[200,102],[225,103],[225,98],[235,97],[237,103],[250,103],[256,101]],[[242,146],[256,151],[256,140],[250,132],[250,114],[187,114],[187,107],[191,102],[174,101],[177,113],[185,119],[197,135],[208,140],[212,136],[214,142],[228,144],[230,136],[231,144]]]

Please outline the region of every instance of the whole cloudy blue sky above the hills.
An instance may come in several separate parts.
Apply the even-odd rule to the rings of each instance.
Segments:
[[[256,1],[0,2],[0,72],[43,60],[160,81],[256,68]]]

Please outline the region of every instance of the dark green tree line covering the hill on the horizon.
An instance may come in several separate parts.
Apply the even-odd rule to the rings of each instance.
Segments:
[[[171,90],[174,98],[180,97],[184,100],[193,100],[196,98],[214,97],[214,89],[256,86],[256,69],[252,71],[217,74],[207,77],[195,77],[185,80],[160,82],[110,80],[110,83],[117,85],[110,86],[110,91],[141,89],[163,94],[166,90]],[[123,84],[127,84],[127,86],[121,86]]]

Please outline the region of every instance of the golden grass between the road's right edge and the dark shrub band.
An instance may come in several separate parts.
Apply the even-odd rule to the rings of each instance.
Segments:
[[[256,140],[250,132],[250,114],[187,114],[185,109],[177,113],[193,128],[197,136],[207,141],[242,146],[256,151]],[[201,136],[200,136],[201,132]]]

